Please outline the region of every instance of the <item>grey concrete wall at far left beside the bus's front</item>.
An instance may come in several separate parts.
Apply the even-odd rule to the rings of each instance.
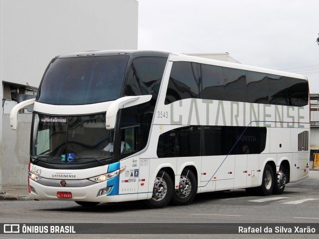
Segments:
[[[27,185],[32,114],[18,114],[17,130],[2,115],[2,185]]]

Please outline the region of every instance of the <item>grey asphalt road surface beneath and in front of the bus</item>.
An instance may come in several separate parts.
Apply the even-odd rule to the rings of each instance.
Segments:
[[[0,223],[135,223],[159,230],[158,223],[299,223],[319,224],[319,171],[286,185],[282,195],[249,196],[245,190],[198,194],[191,205],[148,209],[143,202],[99,204],[94,208],[68,201],[0,201]],[[154,224],[154,225],[150,225]],[[192,226],[192,225],[188,225]],[[152,228],[153,227],[153,228]],[[157,227],[157,228],[155,228]],[[194,232],[198,230],[196,227]],[[114,228],[116,229],[116,228]],[[187,228],[185,228],[187,229]],[[120,229],[119,229],[120,230]],[[183,230],[183,228],[180,228]],[[156,231],[158,232],[158,231]],[[319,235],[162,235],[161,238],[319,238]],[[145,232],[144,232],[145,233]],[[0,238],[159,238],[159,235],[0,235]]]

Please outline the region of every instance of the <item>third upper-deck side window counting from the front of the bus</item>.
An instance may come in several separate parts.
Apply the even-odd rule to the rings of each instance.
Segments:
[[[223,67],[224,100],[247,102],[244,70]]]

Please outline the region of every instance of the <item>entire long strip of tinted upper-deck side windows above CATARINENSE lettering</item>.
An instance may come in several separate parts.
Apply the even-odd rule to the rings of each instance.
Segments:
[[[174,62],[165,104],[197,98],[198,91],[200,99],[272,105],[305,106],[309,98],[308,82],[303,79],[191,62]]]

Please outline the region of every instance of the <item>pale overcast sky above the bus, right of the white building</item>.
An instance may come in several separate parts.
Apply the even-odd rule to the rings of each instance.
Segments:
[[[242,64],[306,75],[319,93],[319,0],[138,1],[139,50],[229,52]]]

